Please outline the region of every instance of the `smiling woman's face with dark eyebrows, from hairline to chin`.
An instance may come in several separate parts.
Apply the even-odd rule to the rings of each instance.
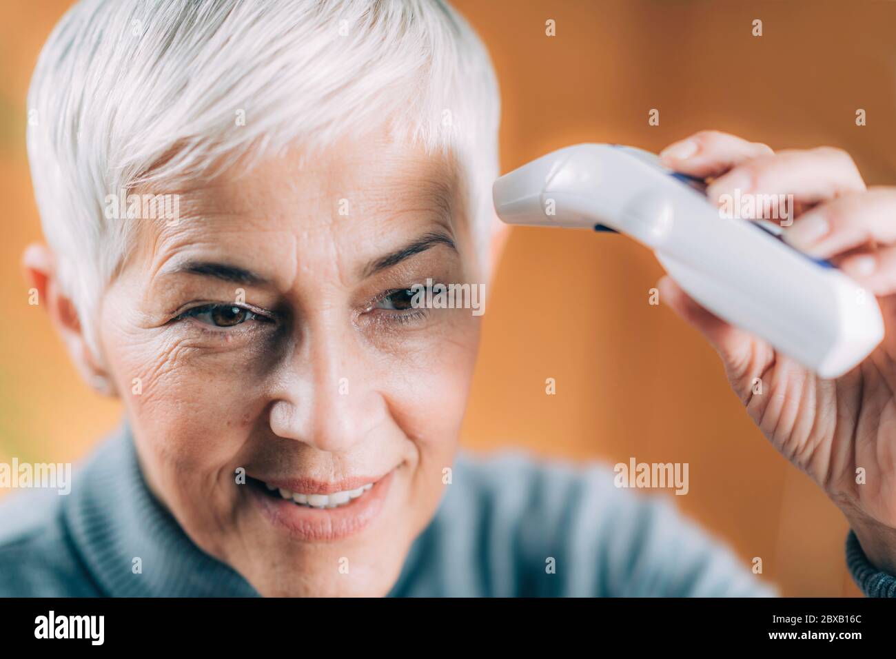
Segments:
[[[142,221],[101,306],[151,489],[263,595],[389,591],[478,346],[469,308],[405,292],[476,281],[452,169],[377,140],[330,153],[186,191],[176,226]]]

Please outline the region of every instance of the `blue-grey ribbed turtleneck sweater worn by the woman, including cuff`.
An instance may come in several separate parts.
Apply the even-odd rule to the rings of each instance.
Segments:
[[[614,475],[598,464],[461,453],[452,485],[390,594],[775,594],[668,498],[616,489]],[[142,559],[142,574],[132,572],[134,557]],[[847,559],[867,595],[896,596],[896,578],[868,563],[852,533]],[[75,471],[68,496],[30,490],[4,498],[0,595],[257,592],[190,541],[152,496],[125,427]]]

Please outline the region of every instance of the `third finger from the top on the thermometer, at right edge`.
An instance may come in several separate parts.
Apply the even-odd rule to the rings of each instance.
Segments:
[[[866,243],[896,242],[894,220],[896,190],[874,187],[863,194],[841,196],[800,215],[784,231],[784,238],[806,254],[827,258]]]

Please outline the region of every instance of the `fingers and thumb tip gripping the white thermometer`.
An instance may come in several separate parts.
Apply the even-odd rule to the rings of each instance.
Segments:
[[[810,256],[836,257],[840,268],[866,289],[877,295],[896,292],[896,188],[867,190],[849,153],[826,146],[775,153],[765,144],[702,131],[671,144],[660,158],[691,176],[718,177],[707,189],[714,202],[752,197],[754,204],[747,207],[755,214],[750,217],[771,214],[785,220],[784,226],[792,224],[783,234],[788,243]],[[800,214],[806,207],[811,210]],[[670,304],[707,336],[723,359],[725,351],[741,343],[742,337],[730,334],[724,321],[674,283],[664,285]]]

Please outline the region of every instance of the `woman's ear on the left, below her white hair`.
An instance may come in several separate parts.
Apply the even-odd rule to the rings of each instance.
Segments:
[[[59,284],[56,256],[45,245],[29,245],[22,255],[22,267],[30,287],[37,293],[38,304],[47,309],[81,376],[100,394],[115,394],[112,378],[99,366],[85,340],[72,299],[65,295]]]

